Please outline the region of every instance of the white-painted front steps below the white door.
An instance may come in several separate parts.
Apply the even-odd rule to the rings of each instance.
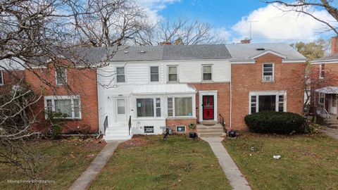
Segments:
[[[106,129],[106,135],[104,135],[104,140],[113,141],[113,140],[128,140],[132,139],[129,135],[129,127],[124,124],[114,124],[109,126]]]

